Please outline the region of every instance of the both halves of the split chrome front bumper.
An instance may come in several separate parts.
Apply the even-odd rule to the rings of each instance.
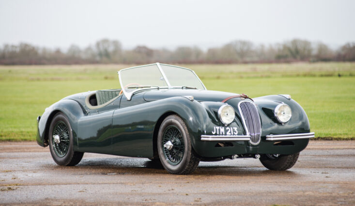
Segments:
[[[298,140],[309,139],[314,137],[314,132],[298,133],[298,134],[277,134],[266,135],[267,141],[283,141],[283,140]],[[219,141],[250,141],[250,135],[201,135],[201,141],[219,142]]]

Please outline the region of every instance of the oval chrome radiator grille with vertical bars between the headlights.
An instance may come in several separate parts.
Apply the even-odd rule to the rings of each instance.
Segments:
[[[242,115],[243,125],[247,131],[247,135],[250,135],[250,143],[260,143],[262,127],[259,112],[255,104],[249,101],[241,101],[239,102],[238,108]]]

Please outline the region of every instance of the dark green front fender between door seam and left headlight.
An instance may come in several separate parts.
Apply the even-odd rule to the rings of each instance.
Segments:
[[[205,130],[204,121],[208,115],[200,102],[178,96],[114,111],[112,154],[153,157],[154,131],[160,126],[158,120],[167,113],[176,113],[184,120],[194,147]]]

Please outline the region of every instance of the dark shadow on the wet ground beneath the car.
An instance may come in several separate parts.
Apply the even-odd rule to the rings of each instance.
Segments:
[[[235,164],[235,165],[234,165]],[[59,170],[75,170],[83,173],[100,174],[167,174],[160,161],[147,158],[89,158],[83,159],[77,166],[61,167]],[[224,176],[296,176],[292,169],[289,171],[270,171],[261,164],[248,162],[246,165],[237,161],[201,162],[199,167],[190,175],[224,175]]]

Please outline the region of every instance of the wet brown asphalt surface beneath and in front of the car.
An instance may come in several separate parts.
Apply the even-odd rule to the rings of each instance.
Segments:
[[[0,143],[0,205],[355,205],[355,141],[311,141],[293,168],[258,159],[168,174],[146,158],[88,154],[57,166],[49,148]]]

